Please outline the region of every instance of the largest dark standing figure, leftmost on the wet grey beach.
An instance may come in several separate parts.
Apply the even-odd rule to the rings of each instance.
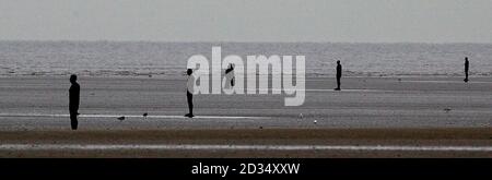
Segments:
[[[70,76],[70,83],[72,85],[69,89],[69,110],[70,110],[70,123],[72,130],[77,130],[79,121],[77,116],[79,116],[79,104],[80,104],[80,85],[77,83],[77,75],[72,74]]]

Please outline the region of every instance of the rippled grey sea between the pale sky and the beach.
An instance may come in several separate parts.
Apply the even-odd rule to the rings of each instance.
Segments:
[[[492,44],[0,41],[0,76],[180,76],[192,55],[305,56],[307,76],[330,76],[341,60],[348,76],[492,75]]]

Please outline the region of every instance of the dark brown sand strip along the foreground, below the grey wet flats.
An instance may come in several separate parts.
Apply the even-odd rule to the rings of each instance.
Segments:
[[[2,131],[2,144],[164,144],[164,145],[391,145],[488,146],[492,129],[262,129],[262,130],[115,130]],[[491,152],[452,151],[244,151],[110,149],[16,151],[2,157],[492,157]]]

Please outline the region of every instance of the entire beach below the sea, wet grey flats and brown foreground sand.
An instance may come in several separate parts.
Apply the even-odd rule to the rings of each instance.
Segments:
[[[469,83],[461,77],[344,77],[341,92],[332,91],[335,79],[308,77],[303,106],[284,107],[285,95],[197,95],[192,119],[183,117],[187,112],[185,77],[81,76],[79,83],[80,130],[71,131],[68,79],[0,77],[0,156],[491,157],[492,80],[485,77],[471,77]],[[148,118],[142,117],[144,112]],[[117,120],[119,116],[126,120]],[[60,145],[60,149],[19,146],[33,144]],[[104,151],[61,146],[73,144],[314,148]],[[316,149],[333,145],[371,148]],[[483,149],[372,149],[378,145]]]

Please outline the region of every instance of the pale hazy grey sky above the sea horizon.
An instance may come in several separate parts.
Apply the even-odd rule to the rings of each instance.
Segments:
[[[492,0],[0,0],[0,39],[492,43]]]

